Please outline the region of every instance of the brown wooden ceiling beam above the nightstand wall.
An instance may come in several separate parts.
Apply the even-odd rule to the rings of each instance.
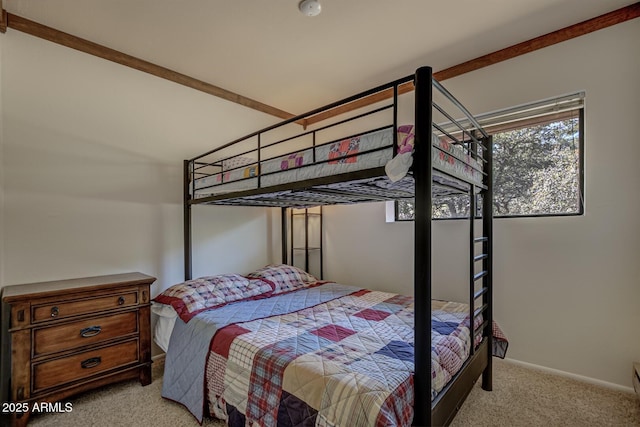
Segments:
[[[2,0],[0,0],[0,2],[1,1]],[[106,59],[108,61],[116,62],[118,64],[152,74],[156,77],[170,80],[174,83],[178,83],[192,89],[199,90],[222,99],[226,99],[227,101],[235,102],[236,104],[240,104],[244,107],[252,108],[254,110],[270,114],[275,117],[279,117],[282,119],[289,119],[291,117],[294,117],[294,114],[288,113],[267,104],[263,104],[262,102],[247,98],[234,92],[230,92],[221,87],[203,82],[202,80],[194,79],[193,77],[189,77],[160,65],[144,61],[131,55],[127,55],[126,53],[119,52],[106,46],[93,43],[89,40],[85,40],[80,37],[76,37],[71,34],[56,30],[54,28],[47,27],[37,22],[30,21],[26,18],[22,18],[12,13],[7,13],[4,10],[2,11],[2,15],[4,17],[2,23],[6,24],[5,28],[9,27],[11,29],[21,31],[35,37],[39,37],[41,39],[60,44],[62,46],[66,46],[71,49],[76,49],[81,52]]]

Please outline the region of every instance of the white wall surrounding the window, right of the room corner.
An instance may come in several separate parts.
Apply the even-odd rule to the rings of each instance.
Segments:
[[[636,19],[444,82],[476,114],[586,91],[585,215],[495,220],[494,313],[510,358],[625,387],[640,360],[638,40]],[[385,223],[383,204],[325,213],[326,277],[412,292],[413,224]],[[467,267],[447,257],[466,226],[434,233],[436,296],[466,300]]]

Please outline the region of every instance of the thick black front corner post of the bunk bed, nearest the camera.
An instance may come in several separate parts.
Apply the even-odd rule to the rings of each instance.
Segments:
[[[432,69],[415,74],[414,225],[414,416],[413,425],[431,425],[431,133]]]

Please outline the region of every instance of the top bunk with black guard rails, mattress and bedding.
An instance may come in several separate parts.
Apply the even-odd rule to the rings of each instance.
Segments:
[[[399,113],[403,104],[414,105],[398,96],[407,84],[413,84],[413,76],[185,161],[185,199],[189,204],[302,208],[413,198],[416,127],[424,129],[429,122],[413,111]],[[430,126],[433,196],[486,188],[486,133],[435,80],[433,87],[442,93],[438,104],[429,102],[435,112]],[[385,91],[392,93],[392,101],[348,107]],[[331,114],[334,110],[339,113]],[[329,119],[315,119],[327,113]]]

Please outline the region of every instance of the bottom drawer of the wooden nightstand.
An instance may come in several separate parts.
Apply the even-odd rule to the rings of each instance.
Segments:
[[[138,361],[138,340],[34,365],[33,392],[87,378]]]

